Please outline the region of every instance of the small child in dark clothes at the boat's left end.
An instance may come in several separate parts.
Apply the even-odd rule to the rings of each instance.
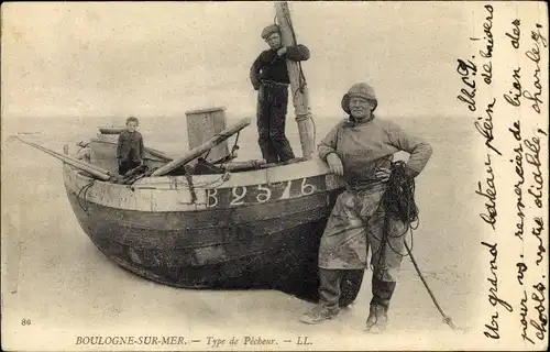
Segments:
[[[119,135],[117,146],[117,161],[119,163],[119,175],[124,175],[132,168],[143,164],[145,147],[140,132],[135,131],[140,121],[130,117],[127,119],[127,129]]]

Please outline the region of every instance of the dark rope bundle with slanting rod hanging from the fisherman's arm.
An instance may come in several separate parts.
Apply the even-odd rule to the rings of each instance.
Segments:
[[[378,268],[383,267],[380,264],[384,263],[386,245],[388,245],[392,251],[398,253],[402,256],[408,255],[410,257],[410,261],[413,262],[413,265],[415,266],[418,276],[420,277],[420,280],[428,290],[428,294],[430,295],[439,312],[443,317],[443,322],[451,327],[451,329],[457,330],[457,326],[454,326],[454,323],[452,322],[451,317],[447,316],[439,305],[436,296],[433,295],[431,288],[428,286],[428,283],[426,282],[413,255],[413,230],[418,229],[418,224],[420,221],[419,210],[415,202],[415,179],[407,175],[406,169],[406,164],[402,161],[392,163],[392,176],[388,180],[388,187],[381,199],[380,210],[383,209],[385,211],[385,217],[381,246],[378,249],[378,251],[382,251],[381,255],[378,256]],[[405,223],[405,231],[392,237],[389,233],[389,222],[392,220],[398,220]],[[411,245],[409,246],[407,244],[407,241],[404,239],[407,254],[402,254],[399,251],[392,246],[388,241],[388,237],[400,238],[404,237],[409,230]]]

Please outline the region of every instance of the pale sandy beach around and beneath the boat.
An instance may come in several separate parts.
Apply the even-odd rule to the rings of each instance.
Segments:
[[[317,141],[337,121],[319,119]],[[471,194],[464,189],[470,190],[472,161],[461,146],[468,145],[469,134],[461,132],[460,121],[453,120],[452,125],[439,118],[416,121],[420,123],[403,122],[415,125],[415,132],[432,143],[435,153],[417,180],[421,223],[415,232],[414,254],[442,308],[457,326],[469,329],[475,324],[479,300],[473,288],[479,278],[479,255],[471,250],[479,231],[472,223],[471,210],[464,206]],[[406,348],[405,340],[392,338],[403,336],[417,337],[413,341],[418,348],[437,349],[450,340],[426,339],[427,332],[458,338],[442,322],[408,258],[404,260],[392,301],[389,331],[383,337],[362,332],[371,299],[370,271],[355,302],[321,326],[300,323],[299,316],[311,304],[280,292],[177,289],[125,272],[103,256],[77,223],[66,199],[61,162],[7,140],[9,134],[26,132],[28,140],[59,152],[67,143],[74,152],[75,142],[91,136],[96,125],[105,121],[80,120],[78,125],[72,119],[57,119],[43,127],[29,121],[9,122],[2,131],[2,326],[10,331],[2,343],[7,346],[16,341],[18,350],[73,349],[75,336],[129,331],[185,336],[200,343],[206,343],[208,336],[307,336],[314,349]],[[435,123],[440,124],[437,130]],[[146,144],[169,152],[185,147],[185,140],[179,139],[185,139],[185,131],[167,141],[162,136],[166,133],[160,129],[162,124],[144,119],[142,125]],[[299,151],[294,121],[287,130],[293,146]],[[245,152],[240,160],[258,157],[255,127],[245,129],[241,141],[241,151]],[[22,326],[22,319],[32,323]],[[102,350],[98,345],[82,348]],[[175,346],[157,346],[163,348]],[[197,345],[199,350],[207,348]],[[237,349],[249,348],[270,345]],[[274,348],[297,346],[293,343]]]

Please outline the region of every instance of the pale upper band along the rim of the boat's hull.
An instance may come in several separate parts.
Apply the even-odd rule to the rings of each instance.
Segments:
[[[317,166],[317,168],[316,168]],[[275,170],[274,170],[275,169]],[[295,170],[295,172],[292,172]],[[72,191],[78,198],[87,202],[94,202],[116,209],[151,211],[151,212],[189,212],[189,211],[211,211],[220,209],[239,209],[242,207],[257,207],[262,204],[274,204],[279,200],[299,199],[309,195],[337,190],[343,187],[342,179],[336,175],[328,174],[320,160],[302,161],[295,164],[274,166],[273,169],[244,170],[233,173],[232,179],[223,180],[223,175],[194,175],[191,176],[193,187],[189,187],[186,176],[160,176],[151,177],[147,180],[140,179],[133,185],[114,184],[92,178],[68,164],[64,164],[64,183],[66,191]],[[320,177],[320,178],[319,178]],[[322,183],[321,188],[309,194],[286,194],[280,198],[272,198],[266,202],[240,204],[240,205],[209,205],[211,190],[216,194],[220,189],[228,189],[233,197],[240,190],[239,187],[258,187],[289,183],[286,187],[300,187],[304,190],[308,179],[317,178],[315,182]],[[212,180],[213,179],[213,180]],[[205,187],[204,185],[207,185]],[[79,197],[80,191],[90,185],[90,191],[86,189],[84,198]],[[92,185],[98,185],[92,187]],[[285,188],[285,189],[287,189]],[[288,188],[289,189],[289,188]],[[293,188],[295,189],[295,188]],[[286,193],[286,190],[285,190]]]

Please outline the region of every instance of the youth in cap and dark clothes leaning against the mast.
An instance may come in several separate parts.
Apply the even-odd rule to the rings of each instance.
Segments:
[[[286,59],[307,61],[309,50],[305,45],[283,46],[278,25],[262,31],[262,38],[270,50],[254,61],[250,79],[257,90],[257,133],[263,158],[267,163],[285,163],[294,158],[293,148],[285,135],[288,105],[288,70]]]

